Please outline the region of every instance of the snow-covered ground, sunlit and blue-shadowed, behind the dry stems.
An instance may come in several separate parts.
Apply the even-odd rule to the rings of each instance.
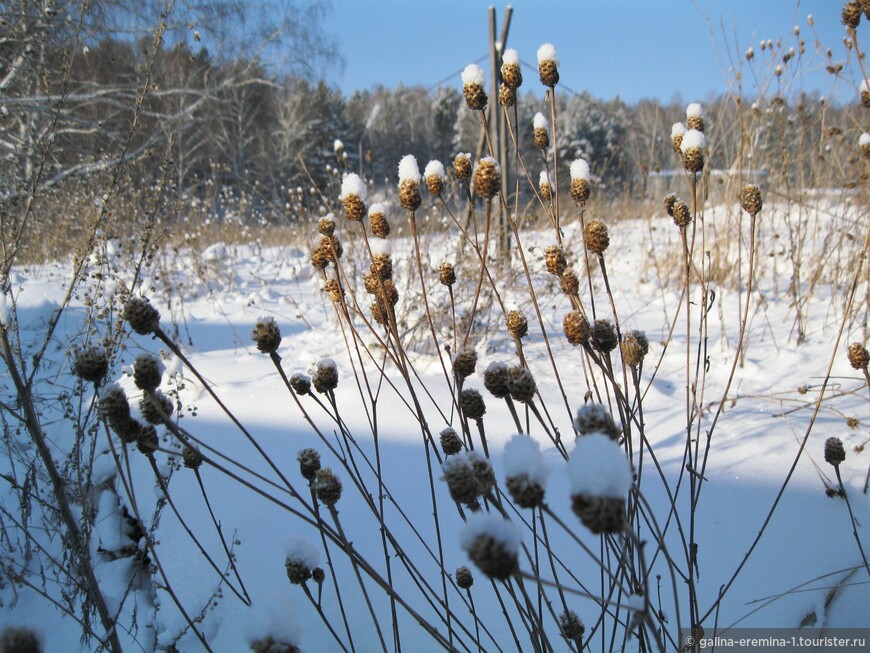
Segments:
[[[339,232],[342,229],[344,227],[340,226]],[[670,229],[672,225],[663,218],[656,233],[673,245]],[[569,236],[571,233],[569,226]],[[608,265],[623,328],[645,330],[652,345],[650,358],[657,360],[662,354],[660,341],[667,338],[667,319],[674,314],[679,302],[679,291],[662,288],[657,283],[655,269],[650,261],[652,250],[646,240],[647,234],[648,225],[643,221],[623,223],[614,229],[611,241],[621,244],[614,245],[615,251],[608,252]],[[525,237],[527,247],[551,244],[546,235],[529,233]],[[347,247],[351,236],[343,238]],[[576,236],[574,238],[573,242],[576,243]],[[570,237],[568,241],[571,242]],[[647,244],[644,245],[644,242]],[[406,241],[394,244],[397,279],[401,275],[410,278],[412,274],[407,247]],[[662,256],[664,247],[657,245],[657,248],[656,251]],[[429,268],[437,268],[448,251],[452,249],[448,248],[445,240],[436,239],[428,249],[431,259]],[[576,252],[579,251],[577,247]],[[117,272],[123,278],[125,272],[120,260],[114,264],[121,266]],[[776,263],[767,256],[762,260],[765,265]],[[106,269],[111,270],[112,261],[109,263]],[[534,265],[536,283],[552,284],[541,272],[540,261]],[[18,269],[15,272],[12,293],[25,348],[33,346],[41,337],[46,320],[61,301],[63,288],[69,281],[69,269],[68,264],[59,263]],[[279,354],[288,375],[296,371],[310,373],[323,357],[331,357],[337,362],[340,374],[337,399],[342,418],[355,435],[360,450],[374,460],[371,429],[353,382],[351,359],[332,307],[321,291],[322,284],[310,267],[307,252],[293,248],[216,248],[197,261],[190,257],[180,258],[172,274],[171,278],[164,275],[159,279],[151,278],[146,283],[146,288],[153,286],[155,289],[146,294],[161,310],[164,329],[170,331],[174,319],[184,351],[296,487],[307,495],[308,489],[299,475],[296,462],[297,451],[304,447],[317,448],[323,455],[324,465],[332,466],[340,477],[344,473],[304,420],[269,358],[254,347],[250,332],[259,316],[274,317],[281,328],[283,341]],[[733,400],[729,399],[726,403],[724,415],[714,433],[711,462],[705,471],[708,482],[704,486],[696,525],[699,534],[700,604],[702,610],[711,604],[761,528],[789,468],[799,454],[800,442],[806,433],[814,402],[833,354],[832,381],[828,389],[832,397],[823,402],[806,449],[800,453],[794,475],[770,526],[729,590],[718,613],[718,623],[724,627],[738,624],[797,627],[808,622],[816,627],[866,626],[870,624],[868,574],[861,568],[861,556],[852,534],[845,502],[825,494],[825,482],[832,484],[836,480],[833,468],[822,458],[826,438],[840,437],[847,452],[846,461],[841,466],[843,482],[858,521],[858,536],[865,550],[870,550],[870,532],[867,530],[870,528],[870,500],[862,493],[870,459],[866,453],[859,455],[852,451],[853,447],[868,437],[868,395],[863,379],[849,367],[845,356],[846,343],[861,339],[860,327],[854,331],[855,326],[851,325],[852,330],[847,329],[839,348],[834,351],[842,299],[831,300],[830,293],[838,293],[840,289],[830,289],[821,284],[812,293],[805,308],[806,340],[800,345],[796,344],[796,339],[791,335],[794,309],[784,290],[788,285],[788,266],[784,260],[781,261],[779,274],[785,276],[777,279],[773,274],[766,274],[760,282],[759,292],[753,298],[753,318],[745,365],[738,367],[730,392]],[[437,285],[436,277],[433,272],[429,281],[433,286],[431,298],[433,304],[441,306],[440,314],[443,317],[447,315],[444,310],[446,293]],[[94,288],[97,283],[90,279],[84,288]],[[597,283],[600,285],[600,279]],[[111,282],[107,294],[111,295],[116,288],[117,282]],[[178,301],[182,290],[174,289],[183,289],[183,303]],[[510,296],[510,289],[504,290]],[[859,297],[861,294],[859,291]],[[604,295],[599,296],[599,306],[606,307]],[[167,303],[167,297],[173,298],[172,305]],[[404,296],[400,305],[403,300]],[[714,409],[734,354],[737,306],[735,291],[718,289],[717,304],[710,314],[710,373],[705,391],[706,400]],[[558,292],[546,294],[542,308],[551,324],[549,333],[559,371],[566,385],[568,403],[571,411],[574,411],[582,404],[586,385],[579,352],[565,342],[558,327],[567,308]],[[88,315],[81,301],[74,302],[65,313],[49,350],[51,362],[40,378],[45,383],[54,384],[56,395],[72,391],[76,386],[68,374],[70,361],[67,354],[72,344],[83,342],[86,331],[84,323]],[[408,319],[413,320],[419,315],[419,311],[409,311]],[[560,431],[570,434],[571,414],[565,409],[553,380],[540,330],[535,328],[532,320],[530,325],[531,334],[525,350],[530,367],[536,374],[542,395],[548,398],[547,407]],[[448,326],[445,320],[442,333],[449,334]],[[103,335],[99,333],[100,328],[97,324],[98,337]],[[133,336],[127,349],[119,353],[112,376],[126,389],[134,410],[141,393],[125,370],[129,371],[135,356],[142,351],[158,353],[161,349],[165,347],[150,337]],[[504,475],[499,452],[516,429],[504,404],[483,390],[480,372],[493,360],[512,362],[515,354],[505,335],[498,333],[490,333],[486,339],[480,339],[477,350],[478,373],[469,379],[468,385],[479,388],[487,401],[484,423],[496,477],[501,484]],[[418,388],[425,386],[432,393],[431,399],[424,401],[424,410],[433,432],[437,434],[451,419],[450,399],[441,366],[431,354],[426,353],[417,354],[413,362],[420,374],[415,385]],[[650,380],[653,366],[647,364],[643,379],[644,386],[648,386],[644,399],[647,432],[669,478],[676,478],[680,473],[685,445],[684,363],[685,333],[682,325],[678,324],[674,341],[665,352],[655,378]],[[181,363],[169,355],[167,366],[163,389],[168,392],[174,387],[170,380],[182,385],[178,392],[184,406],[181,419],[184,428],[234,461],[274,479],[275,474],[254,447],[221,413]],[[398,375],[389,366],[388,369],[390,378],[399,384]],[[372,370],[373,367],[368,372]],[[799,390],[801,388],[805,388],[806,392]],[[4,401],[8,399],[8,392],[7,387]],[[90,388],[84,390],[81,399],[83,405],[91,401]],[[327,437],[335,442],[334,422],[330,424],[323,411],[310,398],[302,398],[302,401],[324,428]],[[398,508],[419,529],[419,537],[403,521],[398,508],[389,503],[388,523],[393,525],[409,557],[420,565],[424,575],[437,586],[440,583],[437,564],[424,546],[425,543],[434,550],[436,540],[420,428],[407,406],[390,388],[382,391],[377,408],[383,481]],[[439,411],[443,411],[443,415]],[[71,446],[70,434],[66,428],[67,422],[59,412],[53,405],[45,406],[45,429],[58,451],[66,452]],[[847,427],[848,417],[858,418],[857,429]],[[576,527],[576,534],[597,551],[599,538],[586,531],[571,513],[564,462],[540,428],[533,424],[531,432],[541,442],[545,458],[552,467],[547,487],[549,505],[572,527]],[[105,435],[98,439],[98,443],[92,484],[95,488],[103,489],[98,490],[99,513],[92,552],[95,559],[99,560],[97,572],[104,583],[104,595],[110,609],[121,611],[119,623],[129,625],[131,615],[136,613],[137,629],[122,634],[125,650],[150,651],[155,646],[160,648],[174,641],[185,627],[184,620],[167,593],[162,589],[154,589],[151,580],[159,585],[158,576],[140,576],[138,589],[130,592],[133,558],[122,556],[110,560],[97,550],[99,547],[117,551],[129,540],[118,503],[119,496],[124,502],[126,499],[115,463],[106,446]],[[13,446],[14,442],[8,440],[4,445],[7,448]],[[135,495],[147,520],[162,493],[156,487],[154,473],[147,461],[135,449],[129,453]],[[162,472],[168,473],[167,457],[158,454],[157,460]],[[657,514],[665,515],[666,504],[661,483],[655,478],[651,466],[645,473],[648,476],[644,492],[657,507]],[[469,564],[460,548],[462,522],[449,499],[447,488],[439,480],[440,469],[436,469],[435,474],[445,567],[452,573],[456,567]],[[161,514],[156,538],[162,565],[182,604],[193,615],[203,611],[201,629],[212,649],[246,650],[250,638],[262,636],[271,629],[270,632],[289,633],[305,651],[339,650],[301,588],[288,582],[284,568],[288,540],[302,540],[316,546],[320,564],[325,564],[317,532],[208,465],[201,468],[200,475],[224,533],[238,542],[234,553],[241,578],[253,601],[252,607],[245,607],[227,590],[222,591],[219,600],[212,600],[219,588],[217,575],[204,562],[168,507]],[[376,491],[373,474],[363,470],[362,476],[368,479],[369,489]],[[259,485],[263,487],[262,483]],[[3,499],[6,508],[17,507],[11,491],[7,489],[4,492],[7,492]],[[190,528],[202,534],[206,549],[216,560],[225,560],[202,492],[189,469],[177,466],[172,472],[170,494]],[[286,495],[284,498],[287,499]],[[345,492],[337,507],[348,538],[355,547],[365,552],[374,566],[383,569],[378,524],[346,478]],[[528,511],[525,515],[528,517]],[[528,531],[523,532],[525,543],[531,544]],[[42,537],[39,529],[34,530],[34,537]],[[47,535],[45,537],[48,538]],[[584,582],[591,583],[593,588],[597,587],[598,570],[594,563],[567,538],[555,537],[557,542],[553,548],[566,561],[570,561],[568,566],[574,574]],[[674,544],[673,540],[670,542]],[[60,550],[56,540],[47,539],[43,545],[50,552],[57,553]],[[291,543],[290,546],[296,545]],[[334,546],[332,554],[339,583],[350,605],[348,619],[355,633],[357,650],[378,650],[372,620],[353,572]],[[4,552],[4,560],[10,555]],[[8,561],[4,564],[8,564]],[[393,570],[393,585],[400,594],[412,597],[415,609],[432,623],[440,624],[437,612],[431,606],[413,599],[413,583],[396,559]],[[673,614],[670,579],[662,565],[656,573],[663,574],[662,606],[666,612]],[[546,573],[543,575],[547,576]],[[309,586],[316,594],[316,586],[311,582]],[[835,587],[836,592],[831,594]],[[391,646],[389,604],[372,583],[368,584],[368,588],[385,628],[388,645]],[[54,591],[53,588],[49,590]],[[681,600],[684,601],[682,586],[680,591]],[[498,642],[496,645],[483,636],[486,650],[498,650],[498,647],[512,649],[513,643],[500,608],[491,588],[479,573],[476,573],[472,593],[481,622]],[[34,592],[26,588],[14,588],[7,582],[0,589],[0,597],[3,604],[0,624],[35,628],[44,639],[46,651],[76,650],[80,636],[78,624],[64,617]],[[830,599],[827,605],[826,597]],[[465,625],[473,631],[474,622],[468,616],[467,608],[462,605],[462,597],[454,592],[450,600],[454,611],[465,619]],[[570,607],[584,622],[595,622],[599,612],[591,601],[579,597],[572,601]],[[323,604],[331,622],[343,633],[333,601],[330,578],[323,584]],[[437,650],[431,638],[401,610],[399,624],[404,650]],[[670,626],[676,627],[674,620]],[[554,641],[557,637],[554,635]],[[463,639],[466,644],[470,641],[467,637]],[[528,642],[525,644],[528,645]],[[201,644],[190,633],[178,640],[177,647],[181,651],[202,650]],[[85,644],[81,650],[90,648],[91,645]]]

